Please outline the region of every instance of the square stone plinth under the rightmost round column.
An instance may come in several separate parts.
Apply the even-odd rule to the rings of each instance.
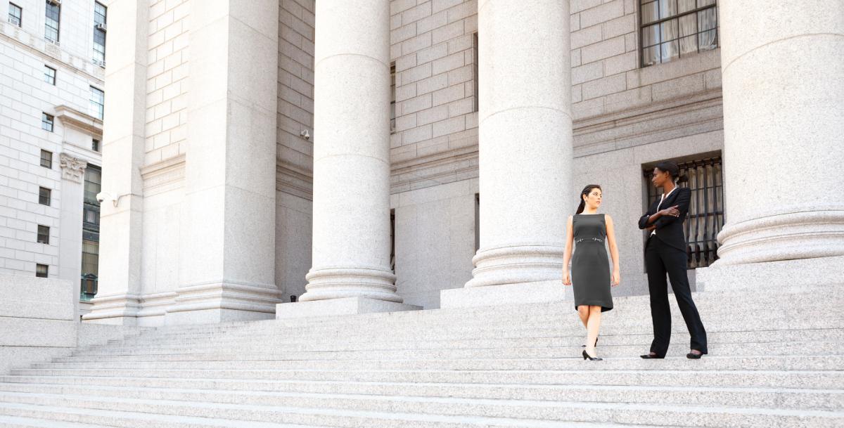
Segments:
[[[720,261],[720,260],[719,260]],[[844,256],[726,265],[696,269],[699,292],[801,292],[818,286],[841,286]]]

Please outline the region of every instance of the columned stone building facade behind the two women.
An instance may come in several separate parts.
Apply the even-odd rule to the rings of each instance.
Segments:
[[[565,298],[565,217],[588,184],[603,186],[617,225],[614,292],[644,294],[636,220],[665,159],[694,189],[692,279],[719,264],[822,266],[844,254],[844,195],[795,207],[783,199],[801,191],[781,183],[800,181],[785,166],[797,159],[840,188],[844,88],[830,76],[841,76],[841,8],[814,2],[801,16],[830,18],[797,25],[767,3],[106,2],[110,201],[85,319],[273,318],[297,299],[279,314]],[[742,39],[744,25],[771,22],[782,32]],[[825,70],[809,72],[812,87],[757,56],[803,47],[814,55],[798,72]],[[763,78],[730,76],[738,68]],[[770,104],[749,104],[759,91]],[[793,117],[823,120],[812,132],[771,120],[771,109],[794,113],[779,97],[801,103]],[[757,165],[771,172],[754,177]]]

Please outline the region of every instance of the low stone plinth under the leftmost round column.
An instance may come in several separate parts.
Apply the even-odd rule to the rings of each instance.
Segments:
[[[406,303],[387,302],[367,297],[344,297],[311,302],[279,303],[275,307],[275,318],[330,317],[335,315],[358,315],[360,313],[381,313],[418,311],[421,306]]]

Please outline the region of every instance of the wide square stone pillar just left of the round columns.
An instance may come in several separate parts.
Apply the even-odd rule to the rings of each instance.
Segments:
[[[181,286],[165,323],[273,318],[279,2],[191,4]]]

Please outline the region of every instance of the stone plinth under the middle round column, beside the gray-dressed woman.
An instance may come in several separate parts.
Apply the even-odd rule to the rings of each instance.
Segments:
[[[452,288],[440,292],[441,309],[561,302],[565,300],[573,302],[574,296],[571,287],[563,286],[560,280]]]

